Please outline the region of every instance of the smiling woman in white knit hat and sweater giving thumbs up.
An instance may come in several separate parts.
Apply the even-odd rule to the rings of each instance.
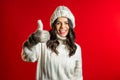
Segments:
[[[37,61],[36,80],[83,80],[80,46],[75,40],[75,19],[66,6],[58,6],[51,30],[33,33],[23,45],[24,61]],[[42,27],[42,24],[39,25]]]

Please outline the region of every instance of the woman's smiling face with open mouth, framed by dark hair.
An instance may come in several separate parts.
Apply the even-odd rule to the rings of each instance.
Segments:
[[[56,30],[59,36],[66,37],[69,32],[68,19],[65,17],[59,17],[56,23]]]

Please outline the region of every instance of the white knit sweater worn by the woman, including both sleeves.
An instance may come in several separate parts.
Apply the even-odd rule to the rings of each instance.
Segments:
[[[75,54],[68,56],[69,50],[62,40],[59,40],[56,55],[46,43],[38,43],[31,49],[23,48],[24,61],[37,61],[36,80],[83,80],[81,48],[78,44]]]

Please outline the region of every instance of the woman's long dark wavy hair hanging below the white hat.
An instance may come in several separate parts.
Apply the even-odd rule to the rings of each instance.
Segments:
[[[57,19],[54,21],[52,24],[52,29],[49,31],[50,32],[50,40],[47,42],[47,47],[50,48],[53,52],[56,54],[59,54],[58,51],[56,50],[57,46],[59,45],[58,38],[56,35],[56,23]],[[75,45],[75,32],[73,30],[73,24],[70,19],[68,19],[68,25],[69,25],[69,33],[67,35],[66,39],[66,45],[67,48],[69,49],[69,56],[72,56],[75,54],[76,51],[76,45]]]

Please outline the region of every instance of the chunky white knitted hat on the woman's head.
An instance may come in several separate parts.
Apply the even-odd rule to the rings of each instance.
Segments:
[[[68,9],[66,6],[58,6],[55,11],[53,12],[51,18],[50,18],[50,26],[58,17],[67,17],[69,18],[73,23],[73,28],[75,27],[75,18],[70,9]]]

